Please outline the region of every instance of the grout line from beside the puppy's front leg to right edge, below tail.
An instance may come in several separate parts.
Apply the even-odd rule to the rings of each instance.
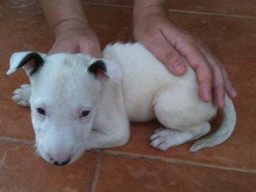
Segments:
[[[204,168],[212,168],[212,169],[218,169],[218,170],[228,170],[228,171],[234,171],[234,172],[256,174],[256,170],[244,169],[244,168],[229,168],[229,167],[226,167],[226,166],[204,164],[204,163],[193,163],[193,162],[189,162],[189,161],[182,161],[182,160],[176,160],[176,159],[157,159],[156,157],[151,157],[151,156],[140,156],[140,155],[136,155],[136,154],[127,154],[127,153],[123,153],[123,152],[113,152],[113,151],[109,151],[109,150],[104,150],[102,153],[113,155],[113,156],[130,157],[130,158],[133,158],[133,159],[143,159],[143,160],[147,160],[147,161],[158,161],[158,162],[175,163],[175,164],[186,164],[186,165],[192,165],[192,166],[201,166],[201,167],[204,167]]]

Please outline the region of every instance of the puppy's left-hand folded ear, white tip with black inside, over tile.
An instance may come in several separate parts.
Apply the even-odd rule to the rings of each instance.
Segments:
[[[44,65],[45,58],[46,54],[40,52],[15,52],[10,58],[10,68],[6,74],[10,75],[22,67],[28,76],[33,76]]]

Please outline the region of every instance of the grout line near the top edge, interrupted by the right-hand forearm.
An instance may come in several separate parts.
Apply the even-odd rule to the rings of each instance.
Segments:
[[[131,5],[122,5],[122,4],[113,4],[113,3],[92,3],[92,2],[83,2],[83,4],[91,4],[91,5],[99,5],[99,6],[112,6],[118,8],[132,8]],[[221,16],[221,17],[239,17],[245,19],[256,19],[256,16],[251,15],[237,15],[231,13],[211,13],[211,12],[198,12],[198,11],[189,11],[189,10],[171,10],[168,9],[168,12],[173,13],[190,13],[190,14],[198,14],[198,15],[214,15],[214,16]]]

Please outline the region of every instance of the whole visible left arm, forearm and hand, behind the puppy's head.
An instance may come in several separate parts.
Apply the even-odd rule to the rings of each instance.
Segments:
[[[55,36],[48,54],[90,54],[100,58],[100,44],[84,14],[80,0],[40,0],[45,19]]]

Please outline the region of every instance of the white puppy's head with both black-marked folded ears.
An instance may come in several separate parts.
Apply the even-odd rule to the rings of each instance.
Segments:
[[[24,68],[31,82],[36,148],[46,161],[64,165],[83,154],[106,79],[119,82],[121,69],[83,54],[17,52],[7,74]]]

